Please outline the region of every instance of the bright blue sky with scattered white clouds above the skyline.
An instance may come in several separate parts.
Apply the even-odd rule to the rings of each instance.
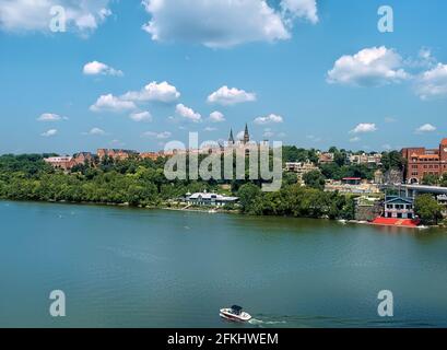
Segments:
[[[306,148],[435,147],[447,2],[385,2],[392,33],[375,0],[0,0],[0,153],[158,150],[245,122]]]

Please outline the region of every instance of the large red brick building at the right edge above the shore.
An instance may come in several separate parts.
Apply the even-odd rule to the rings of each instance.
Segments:
[[[447,138],[440,141],[438,149],[407,148],[402,151],[407,160],[405,182],[419,184],[425,175],[442,176],[447,173]]]

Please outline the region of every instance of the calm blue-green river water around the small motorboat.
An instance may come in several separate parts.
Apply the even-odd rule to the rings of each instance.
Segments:
[[[0,222],[0,327],[447,326],[443,230],[11,201]]]

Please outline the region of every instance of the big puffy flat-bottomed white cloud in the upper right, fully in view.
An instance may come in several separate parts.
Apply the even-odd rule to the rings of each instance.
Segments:
[[[357,54],[339,58],[328,72],[329,83],[378,86],[409,78],[402,58],[385,46],[365,48]]]

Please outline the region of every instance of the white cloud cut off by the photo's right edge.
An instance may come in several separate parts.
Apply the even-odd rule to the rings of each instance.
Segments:
[[[416,92],[422,100],[447,97],[447,65],[438,63],[417,79]]]

